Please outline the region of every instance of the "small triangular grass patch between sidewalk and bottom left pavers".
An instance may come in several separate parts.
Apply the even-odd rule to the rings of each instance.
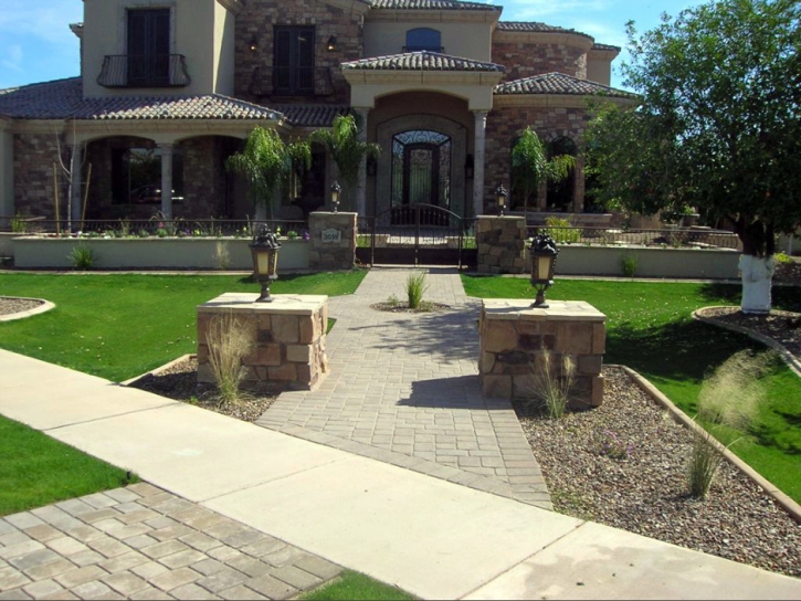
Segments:
[[[0,417],[0,516],[133,482],[125,470]]]

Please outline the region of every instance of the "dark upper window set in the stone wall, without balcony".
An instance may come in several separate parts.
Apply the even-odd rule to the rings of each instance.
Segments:
[[[275,28],[273,86],[276,94],[314,94],[314,28]]]

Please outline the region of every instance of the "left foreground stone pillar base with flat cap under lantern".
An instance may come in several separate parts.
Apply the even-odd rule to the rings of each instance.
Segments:
[[[207,344],[211,320],[234,316],[250,328],[255,342],[242,360],[247,370],[244,388],[313,389],[328,369],[328,297],[274,295],[272,303],[255,303],[257,297],[228,293],[198,307],[198,382],[215,381]]]

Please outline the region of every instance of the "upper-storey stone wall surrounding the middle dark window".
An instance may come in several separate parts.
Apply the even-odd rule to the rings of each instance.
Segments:
[[[327,68],[334,94],[314,98],[315,103],[348,103],[350,87],[339,72],[339,64],[361,59],[361,33],[359,10],[342,10],[326,2],[303,0],[249,0],[236,15],[234,89],[238,98],[257,101],[250,92],[253,74],[257,67],[270,68],[273,64],[273,28],[275,25],[315,27],[315,68]],[[337,50],[328,52],[326,42],[330,35],[337,39]],[[250,50],[255,36],[256,52]],[[306,98],[305,102],[309,102]]]

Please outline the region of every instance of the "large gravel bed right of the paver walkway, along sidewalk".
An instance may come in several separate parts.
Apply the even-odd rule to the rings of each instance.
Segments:
[[[607,367],[603,376],[603,405],[591,411],[550,420],[515,408],[555,508],[801,577],[801,525],[728,462],[705,500],[689,497],[691,432],[621,369]]]

